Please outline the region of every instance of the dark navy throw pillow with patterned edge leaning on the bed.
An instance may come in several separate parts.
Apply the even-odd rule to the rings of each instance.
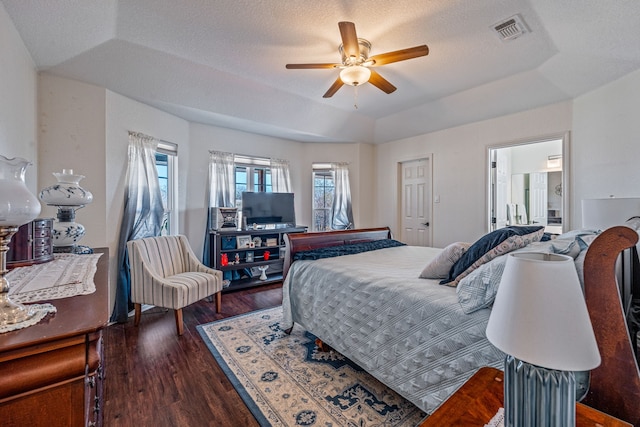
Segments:
[[[449,270],[449,275],[443,279],[440,284],[446,285],[453,282],[453,286],[455,286],[462,278],[459,276],[463,274],[465,276],[468,275],[473,271],[474,266],[477,268],[483,262],[489,262],[498,255],[503,255],[507,252],[511,252],[512,250],[520,249],[531,242],[538,241],[542,237],[543,233],[543,226],[513,226],[500,228],[489,234],[485,234],[471,245],[464,255],[462,255],[455,264],[453,264],[453,267]],[[528,238],[519,238],[525,236]],[[494,249],[501,246],[503,242],[506,242],[507,244],[502,245],[502,247],[499,248],[499,251],[494,251]]]

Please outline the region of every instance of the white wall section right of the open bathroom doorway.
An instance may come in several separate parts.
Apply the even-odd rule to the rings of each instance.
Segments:
[[[571,212],[576,226],[582,223],[582,199],[640,197],[638,111],[640,71],[574,101]]]

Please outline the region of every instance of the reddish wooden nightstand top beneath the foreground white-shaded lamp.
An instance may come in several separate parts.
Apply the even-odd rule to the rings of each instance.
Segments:
[[[503,373],[498,369],[480,368],[419,427],[483,427],[503,406],[504,382],[502,378]],[[632,427],[629,423],[581,403],[576,404],[576,426]]]

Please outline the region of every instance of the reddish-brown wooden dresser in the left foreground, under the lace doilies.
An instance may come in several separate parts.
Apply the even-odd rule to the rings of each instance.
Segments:
[[[96,292],[46,301],[57,312],[0,334],[0,424],[101,426],[102,329],[109,320],[109,252],[98,259]]]

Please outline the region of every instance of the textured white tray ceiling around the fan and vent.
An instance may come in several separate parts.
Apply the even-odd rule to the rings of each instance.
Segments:
[[[640,68],[635,0],[2,0],[39,70],[190,121],[298,141],[380,143],[573,98]],[[515,14],[530,32],[503,42]],[[339,21],[371,55],[426,57],[322,95]],[[357,104],[357,108],[354,107]]]

